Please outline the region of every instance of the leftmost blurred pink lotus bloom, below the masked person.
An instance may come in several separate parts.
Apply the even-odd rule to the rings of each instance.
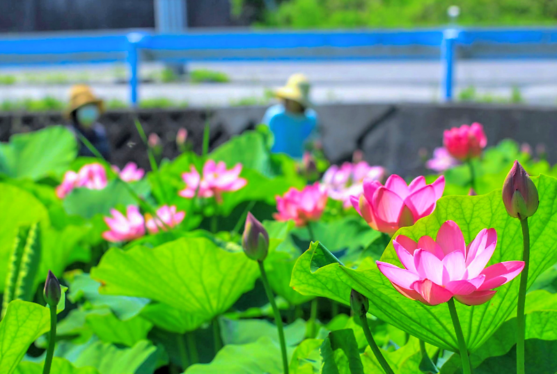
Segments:
[[[85,187],[88,189],[103,189],[107,187],[107,172],[104,166],[98,163],[87,164],[75,171],[66,171],[61,185],[56,187],[56,196],[64,198],[74,188]]]

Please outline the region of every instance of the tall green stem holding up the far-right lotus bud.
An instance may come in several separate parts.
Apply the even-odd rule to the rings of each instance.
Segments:
[[[522,252],[522,260],[524,261],[524,270],[520,274],[520,286],[518,290],[518,305],[517,305],[517,374],[525,373],[525,360],[524,360],[524,338],[525,338],[525,323],[524,323],[524,308],[526,306],[526,288],[528,287],[528,265],[530,265],[530,232],[528,231],[528,218],[521,219],[520,225],[522,226],[522,243],[524,244],[524,251]]]

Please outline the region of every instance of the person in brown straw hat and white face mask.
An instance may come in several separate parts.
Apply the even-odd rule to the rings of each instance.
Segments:
[[[65,118],[70,121],[68,126],[76,134],[79,142],[79,155],[94,157],[95,155],[79,139],[82,135],[100,152],[102,157],[110,159],[110,146],[107,131],[97,122],[104,113],[104,103],[97,98],[86,84],[76,84],[70,89],[70,103],[65,110]]]

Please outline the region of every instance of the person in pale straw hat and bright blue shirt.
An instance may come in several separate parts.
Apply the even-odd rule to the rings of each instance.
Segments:
[[[310,84],[303,74],[288,78],[286,86],[276,91],[281,103],[265,113],[262,123],[274,134],[272,151],[301,159],[308,141],[317,130],[317,114],[311,109]]]

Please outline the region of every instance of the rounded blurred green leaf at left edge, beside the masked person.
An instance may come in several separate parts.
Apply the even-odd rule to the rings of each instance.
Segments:
[[[65,127],[15,134],[10,143],[0,143],[0,174],[33,180],[58,176],[68,170],[76,156],[77,142]]]

